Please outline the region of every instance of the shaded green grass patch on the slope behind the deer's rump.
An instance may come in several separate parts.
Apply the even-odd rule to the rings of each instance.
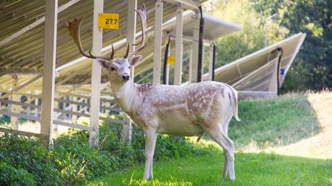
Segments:
[[[320,132],[320,125],[306,95],[239,101],[241,122],[232,119],[228,134],[237,147],[250,143],[259,148],[296,143]],[[205,135],[205,139],[211,140]]]

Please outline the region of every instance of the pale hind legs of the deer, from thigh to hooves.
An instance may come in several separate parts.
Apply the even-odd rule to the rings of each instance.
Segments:
[[[206,129],[205,132],[210,134],[211,138],[223,147],[224,165],[223,165],[223,178],[228,174],[231,180],[235,180],[234,173],[234,144],[230,138],[225,134],[221,126]]]

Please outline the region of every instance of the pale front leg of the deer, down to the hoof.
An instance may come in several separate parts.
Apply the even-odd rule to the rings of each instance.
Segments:
[[[156,145],[156,131],[145,132],[145,169],[143,179],[153,178],[152,160],[154,158],[154,147]]]

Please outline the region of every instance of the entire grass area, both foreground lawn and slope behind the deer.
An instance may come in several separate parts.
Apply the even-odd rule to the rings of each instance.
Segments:
[[[238,147],[235,182],[221,181],[222,151],[213,149],[206,156],[155,163],[158,179],[149,182],[140,180],[138,165],[90,185],[332,185],[331,105],[331,92],[241,101],[242,122],[232,121],[229,131]],[[208,136],[201,145],[207,144],[213,144]],[[257,153],[262,149],[269,153]]]

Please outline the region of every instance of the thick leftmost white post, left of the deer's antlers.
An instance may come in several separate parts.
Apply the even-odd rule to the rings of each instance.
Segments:
[[[48,146],[52,142],[55,56],[57,53],[57,0],[46,1],[45,18],[44,75],[40,133],[46,136],[44,145]]]

